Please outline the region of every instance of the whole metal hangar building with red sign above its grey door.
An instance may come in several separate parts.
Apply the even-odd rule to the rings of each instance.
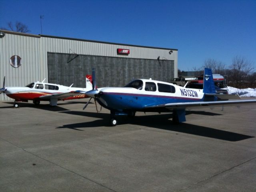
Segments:
[[[125,86],[136,78],[170,81],[178,76],[178,50],[34,35],[0,30],[0,84],[42,81],[85,87],[96,70],[98,87]],[[10,100],[1,94],[0,100]]]

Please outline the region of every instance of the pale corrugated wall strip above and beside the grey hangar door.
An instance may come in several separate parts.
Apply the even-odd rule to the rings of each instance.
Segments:
[[[95,55],[95,56],[109,56],[118,58],[140,58],[140,59],[152,59],[157,60],[172,60],[174,61],[174,76],[178,76],[178,50],[166,49],[166,48],[151,48],[142,46],[132,46],[123,44],[112,44],[104,42],[92,42],[86,40],[57,38],[52,36],[42,36],[42,50],[43,63],[47,65],[48,52],[56,53],[68,53],[68,54],[83,54],[83,55]],[[117,49],[129,49],[129,55],[117,54]],[[169,51],[172,50],[172,54]]]

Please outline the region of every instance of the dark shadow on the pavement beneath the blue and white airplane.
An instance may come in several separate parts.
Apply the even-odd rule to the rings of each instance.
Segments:
[[[110,114],[106,113],[94,113],[94,112],[78,112],[78,111],[65,111],[62,113],[73,114],[73,115],[82,115],[93,118],[100,118],[91,122],[82,122],[75,124],[67,124],[58,128],[70,128],[74,130],[83,130],[83,128],[89,127],[102,127],[110,126]],[[206,114],[205,112],[197,112],[197,114]],[[207,115],[220,115],[216,113],[207,112]],[[197,126],[188,123],[181,123],[178,125],[172,124],[171,114],[156,114],[156,115],[147,115],[147,116],[135,116],[129,118],[127,116],[118,117],[118,125],[122,124],[134,124],[139,126],[146,126],[151,128],[175,131],[180,133],[192,134],[197,136],[203,136],[208,138],[226,140],[226,141],[240,141],[248,138],[254,138],[254,136],[248,136],[244,134],[238,134],[234,132],[209,128],[205,126]]]

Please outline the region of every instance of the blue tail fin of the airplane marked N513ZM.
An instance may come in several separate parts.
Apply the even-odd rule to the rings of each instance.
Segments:
[[[216,94],[212,70],[209,68],[204,68],[204,88],[203,92],[205,94]]]

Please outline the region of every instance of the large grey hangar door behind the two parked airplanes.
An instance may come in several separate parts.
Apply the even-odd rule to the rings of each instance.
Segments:
[[[174,61],[60,54],[48,52],[48,82],[85,87],[86,74],[96,70],[98,87],[125,86],[136,78],[170,81]]]

